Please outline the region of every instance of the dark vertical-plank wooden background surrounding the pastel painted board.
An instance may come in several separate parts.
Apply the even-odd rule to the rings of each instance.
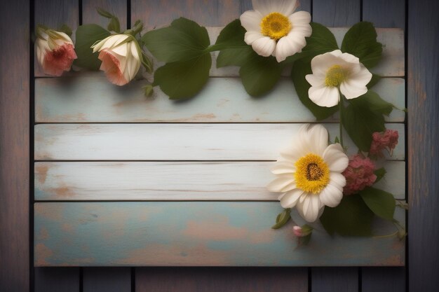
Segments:
[[[203,4],[211,11],[202,13]],[[221,5],[219,5],[221,4]],[[97,22],[94,6],[121,16],[122,27],[148,18],[164,25],[179,11],[202,25],[224,25],[251,7],[248,0],[0,1],[0,291],[438,291],[439,287],[439,11],[435,0],[303,0],[313,20],[330,27],[360,20],[406,33],[406,267],[74,267],[32,266],[32,128],[34,23],[72,27]],[[222,8],[218,8],[218,7]],[[224,6],[238,7],[221,13]],[[154,14],[154,9],[168,11]],[[222,10],[220,10],[222,9]],[[227,9],[227,8],[226,8]],[[146,14],[145,14],[146,13]],[[30,228],[30,229],[29,229]],[[330,252],[330,251],[328,251]]]

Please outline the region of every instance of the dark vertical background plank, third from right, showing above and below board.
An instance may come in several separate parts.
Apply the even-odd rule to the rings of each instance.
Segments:
[[[360,21],[360,0],[313,0],[313,21],[328,27],[346,27]],[[313,292],[358,291],[358,268],[313,267]]]

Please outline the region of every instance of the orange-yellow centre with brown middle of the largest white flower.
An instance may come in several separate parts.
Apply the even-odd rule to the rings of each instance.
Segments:
[[[295,163],[296,186],[308,193],[320,193],[330,181],[330,170],[323,158],[307,154]]]

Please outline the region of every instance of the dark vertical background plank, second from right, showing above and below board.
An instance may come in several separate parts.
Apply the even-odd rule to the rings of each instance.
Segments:
[[[397,27],[405,29],[404,0],[365,0],[363,20],[375,27]],[[405,267],[363,267],[361,268],[363,292],[405,291]]]

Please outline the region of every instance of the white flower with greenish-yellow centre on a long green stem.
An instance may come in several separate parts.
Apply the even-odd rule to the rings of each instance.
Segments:
[[[372,73],[360,63],[358,57],[341,50],[318,55],[311,60],[313,74],[306,75],[311,84],[309,99],[318,106],[336,106],[340,92],[346,99],[353,99],[367,92]]]

